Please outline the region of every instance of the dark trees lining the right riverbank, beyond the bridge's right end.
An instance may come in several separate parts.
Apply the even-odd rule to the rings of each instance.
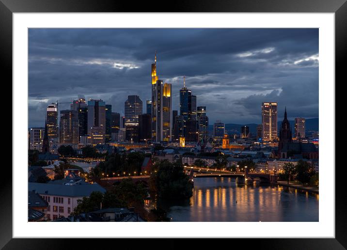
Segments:
[[[284,163],[283,173],[280,173],[280,177],[287,180],[287,184],[289,184],[291,177],[300,181],[303,186],[310,184],[318,186],[319,184],[318,174],[315,172],[314,166],[303,160],[300,160],[295,166],[293,163]]]

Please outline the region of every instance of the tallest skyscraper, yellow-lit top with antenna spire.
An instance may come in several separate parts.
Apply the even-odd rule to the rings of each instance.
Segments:
[[[152,142],[171,141],[172,85],[157,76],[157,51],[152,63]]]

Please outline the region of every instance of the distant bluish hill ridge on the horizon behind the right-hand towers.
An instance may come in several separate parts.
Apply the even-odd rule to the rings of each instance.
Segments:
[[[282,123],[282,120],[277,122],[277,127],[280,129],[280,125]],[[295,121],[289,121],[292,131],[294,133],[294,124]],[[251,123],[251,124],[233,124],[233,123],[228,123],[225,124],[225,129],[229,132],[229,134],[233,133],[240,133],[241,132],[241,126],[249,126],[250,127],[250,132],[253,135],[256,135],[257,131],[257,124]],[[208,130],[210,132],[213,132],[213,125],[208,125]],[[306,119],[306,131],[318,131],[319,130],[319,118],[312,118],[312,119]]]

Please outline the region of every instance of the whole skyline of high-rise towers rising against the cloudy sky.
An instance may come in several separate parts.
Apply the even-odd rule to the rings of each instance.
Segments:
[[[58,102],[49,104],[46,127],[30,130],[30,148],[47,150],[49,145],[44,141],[45,137],[50,141],[59,140],[59,143],[63,144],[92,145],[108,141],[175,141],[181,145],[186,142],[209,141],[206,106],[197,106],[197,96],[186,86],[184,76],[183,87],[179,90],[179,110],[173,110],[172,84],[163,82],[158,76],[157,53],[151,65],[151,92],[151,100],[145,102],[145,113],[142,111],[143,103],[140,96],[128,95],[124,102],[124,116],[112,112],[112,106],[101,99],[90,99],[86,102],[84,98],[79,98],[70,103],[70,109],[60,111]],[[261,116],[262,123],[256,129],[257,141],[278,140],[277,102],[263,102]],[[220,120],[216,121],[213,124],[213,141],[221,143],[224,139],[228,142],[229,137],[225,137],[225,132],[225,124]],[[305,138],[304,118],[295,118],[294,136],[297,139]],[[286,120],[286,112],[280,137],[282,141],[288,138],[291,142],[291,128]],[[247,125],[241,126],[240,139],[248,138],[250,128]]]

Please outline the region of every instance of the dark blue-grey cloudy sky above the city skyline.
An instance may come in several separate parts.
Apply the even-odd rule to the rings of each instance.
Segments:
[[[29,127],[79,96],[124,114],[137,94],[145,110],[155,50],[174,109],[185,75],[210,124],[260,123],[263,101],[278,102],[279,120],[284,106],[289,119],[318,117],[318,29],[29,29]]]

